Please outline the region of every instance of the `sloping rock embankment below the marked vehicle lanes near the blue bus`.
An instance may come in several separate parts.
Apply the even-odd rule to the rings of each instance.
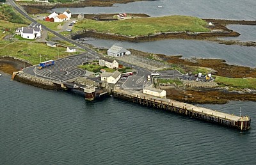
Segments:
[[[52,83],[48,79],[41,77],[35,77],[33,75],[25,74],[24,72],[18,72],[14,78],[15,81],[20,83],[29,84],[31,86],[36,86],[38,88],[43,88],[45,90],[60,90],[61,87],[57,84]]]

